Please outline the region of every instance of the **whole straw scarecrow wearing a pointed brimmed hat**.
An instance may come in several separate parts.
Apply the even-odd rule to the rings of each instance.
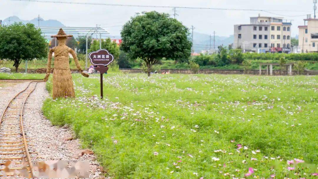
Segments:
[[[79,72],[84,76],[89,75],[84,73],[79,65],[79,61],[76,57],[73,49],[66,46],[66,38],[72,37],[73,35],[66,35],[66,33],[61,28],[57,35],[51,36],[58,39],[59,45],[51,48],[47,58],[47,70],[43,81],[47,81],[51,72],[51,60],[52,53],[54,52],[54,70],[53,70],[53,98],[58,97],[75,97],[75,92],[73,88],[73,79],[71,76],[71,70],[69,65],[68,53],[71,53],[75,61],[76,67]]]

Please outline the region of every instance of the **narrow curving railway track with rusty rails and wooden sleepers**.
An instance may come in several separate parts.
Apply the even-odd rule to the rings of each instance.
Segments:
[[[38,81],[29,82],[28,86],[14,96],[0,118],[0,176],[24,176],[33,178],[31,153],[23,128],[23,108]],[[9,168],[8,163],[15,161]],[[6,168],[3,168],[6,166]],[[21,175],[24,174],[24,175]],[[26,175],[26,176],[25,176]]]

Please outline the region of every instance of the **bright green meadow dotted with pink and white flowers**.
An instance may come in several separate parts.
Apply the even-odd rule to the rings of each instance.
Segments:
[[[241,178],[252,167],[246,178],[317,178],[317,76],[104,77],[103,100],[98,75],[73,74],[77,97],[47,99],[43,111],[71,125],[107,176]],[[305,162],[287,165],[294,158]]]

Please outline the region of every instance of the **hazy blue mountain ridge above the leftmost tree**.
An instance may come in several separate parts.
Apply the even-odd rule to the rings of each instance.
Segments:
[[[35,26],[38,26],[38,18],[34,18],[32,20],[21,20],[19,17],[17,16],[11,16],[8,17],[6,19],[4,19],[2,21],[2,24],[12,24],[15,22],[22,22],[23,24],[26,23],[31,23],[34,24]],[[62,24],[61,22],[59,22],[58,20],[44,20],[42,18],[40,18],[40,27],[66,27],[64,24]]]

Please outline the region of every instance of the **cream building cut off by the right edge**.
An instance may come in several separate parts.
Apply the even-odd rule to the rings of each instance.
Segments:
[[[304,22],[305,25],[298,26],[298,45],[301,52],[318,52],[318,19],[308,17]]]

